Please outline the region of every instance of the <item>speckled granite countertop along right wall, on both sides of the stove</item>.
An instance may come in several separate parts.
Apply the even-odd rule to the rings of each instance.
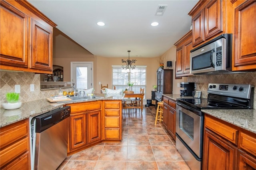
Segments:
[[[192,98],[180,97],[179,94],[163,94],[171,99]],[[203,109],[202,112],[256,133],[256,110],[255,109]]]

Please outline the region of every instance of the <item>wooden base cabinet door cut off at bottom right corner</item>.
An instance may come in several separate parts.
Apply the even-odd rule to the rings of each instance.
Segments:
[[[238,170],[255,170],[256,158],[238,150]]]

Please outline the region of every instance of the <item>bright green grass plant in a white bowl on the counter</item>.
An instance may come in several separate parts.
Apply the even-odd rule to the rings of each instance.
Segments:
[[[19,93],[6,93],[6,101],[8,103],[3,103],[3,107],[6,110],[9,109],[18,109],[21,107],[21,102],[19,102],[20,94]]]

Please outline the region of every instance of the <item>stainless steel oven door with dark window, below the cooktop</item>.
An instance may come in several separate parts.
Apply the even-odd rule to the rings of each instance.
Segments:
[[[199,159],[202,158],[202,133],[202,112],[177,103],[176,134]]]

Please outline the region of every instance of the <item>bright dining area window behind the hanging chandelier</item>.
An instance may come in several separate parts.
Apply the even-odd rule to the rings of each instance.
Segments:
[[[134,93],[140,93],[140,88],[144,88],[144,93],[146,94],[146,66],[136,65],[136,68],[127,72],[122,69],[121,65],[112,65],[112,85],[116,89],[128,89],[127,82],[134,82],[132,86],[132,91]]]

